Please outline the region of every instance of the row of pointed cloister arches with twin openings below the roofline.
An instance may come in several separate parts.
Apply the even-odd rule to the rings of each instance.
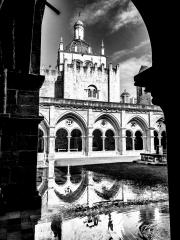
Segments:
[[[55,158],[139,155],[156,152],[158,146],[166,151],[165,125],[159,120],[149,128],[145,120],[133,116],[122,128],[113,116],[102,114],[87,127],[79,116],[65,114],[54,126],[53,136],[48,128],[44,123],[39,126],[38,152],[54,152]],[[54,144],[50,144],[50,139]]]

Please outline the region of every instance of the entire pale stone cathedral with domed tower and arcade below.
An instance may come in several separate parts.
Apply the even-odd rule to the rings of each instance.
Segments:
[[[70,157],[137,159],[143,152],[166,150],[162,110],[140,87],[136,101],[126,90],[121,94],[119,65],[107,63],[103,41],[99,54],[93,51],[82,21],[74,24],[70,44],[61,38],[57,68],[43,67],[41,75],[39,163]]]

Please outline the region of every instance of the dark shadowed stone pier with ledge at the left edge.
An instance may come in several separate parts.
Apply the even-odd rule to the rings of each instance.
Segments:
[[[38,199],[38,124],[43,119],[39,117],[39,88],[44,77],[7,72],[5,78],[6,104],[0,113],[0,186],[9,209],[33,207]]]

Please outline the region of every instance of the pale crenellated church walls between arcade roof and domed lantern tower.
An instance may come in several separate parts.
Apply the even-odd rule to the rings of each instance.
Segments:
[[[119,70],[119,65],[114,67],[112,63],[105,67],[104,63],[77,59],[69,61],[65,58],[62,71],[52,69],[51,66],[41,68],[45,81],[40,89],[40,96],[120,102]],[[95,99],[88,93],[89,86],[95,87],[97,91]]]

